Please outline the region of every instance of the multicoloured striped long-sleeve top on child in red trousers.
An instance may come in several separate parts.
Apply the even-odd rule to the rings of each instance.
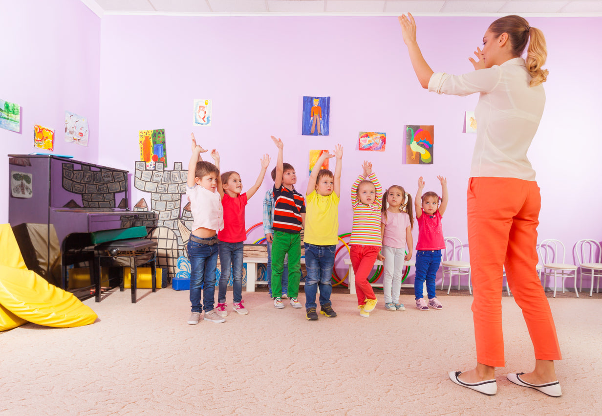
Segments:
[[[359,200],[359,182],[367,179],[376,188],[376,199],[370,205]],[[351,204],[353,207],[353,226],[349,244],[362,244],[364,246],[382,246],[382,235],[380,234],[380,208],[382,206],[382,186],[376,178],[376,174],[364,177],[359,175],[351,186]]]

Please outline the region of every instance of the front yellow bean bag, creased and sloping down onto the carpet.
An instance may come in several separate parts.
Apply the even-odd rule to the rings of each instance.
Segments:
[[[17,317],[57,328],[83,326],[96,320],[95,312],[31,270],[0,265],[0,304]]]

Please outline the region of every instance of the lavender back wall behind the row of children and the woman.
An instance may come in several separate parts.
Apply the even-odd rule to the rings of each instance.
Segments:
[[[490,17],[418,17],[418,39],[434,70],[472,69],[472,56]],[[587,81],[601,67],[594,39],[600,18],[531,18],[547,36],[550,78],[547,105],[529,152],[542,188],[539,240],[602,240],[594,212],[602,203],[600,154],[595,129],[600,82]],[[216,147],[222,168],[255,181],[259,157],[282,137],[285,160],[305,191],[308,150],[345,148],[340,232],[350,230],[349,187],[362,160],[373,162],[383,185],[415,193],[418,176],[439,191],[447,176],[450,204],[444,234],[467,241],[466,187],[474,135],[462,133],[465,110],[477,96],[437,96],[418,85],[395,17],[132,17],[106,16],[101,30],[101,129],[99,163],[133,170],[140,129],[166,129],[168,169],[187,163],[190,132]],[[585,59],[584,57],[587,57]],[[578,69],[582,63],[588,70]],[[303,95],[331,97],[328,137],[302,136]],[[213,125],[193,127],[195,98],[214,100]],[[435,125],[435,164],[402,164],[406,124]],[[386,152],[359,152],[359,131],[387,133]],[[266,179],[262,190],[271,186]],[[247,208],[247,226],[261,221],[260,192]],[[134,191],[132,201],[149,194]],[[586,201],[586,202],[585,202]],[[250,240],[261,237],[256,229]],[[417,230],[414,232],[417,238]],[[416,240],[415,240],[416,241]],[[569,255],[570,257],[570,255]]]

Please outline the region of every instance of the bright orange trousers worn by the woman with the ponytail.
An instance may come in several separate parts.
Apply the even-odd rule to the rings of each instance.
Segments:
[[[471,178],[468,247],[473,281],[477,362],[504,367],[501,329],[502,267],[523,311],[535,359],[561,359],[556,326],[536,265],[541,196],[535,181]]]

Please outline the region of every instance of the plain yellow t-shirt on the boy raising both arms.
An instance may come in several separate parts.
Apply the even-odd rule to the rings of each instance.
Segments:
[[[333,246],[338,243],[338,203],[334,192],[321,196],[315,190],[305,196],[304,243]]]

